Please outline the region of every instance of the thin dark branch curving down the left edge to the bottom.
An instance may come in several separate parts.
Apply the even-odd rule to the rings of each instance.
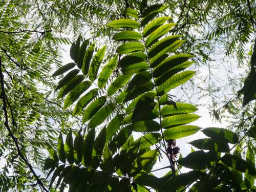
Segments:
[[[26,163],[26,165],[29,167],[31,173],[33,174],[33,176],[35,177],[38,185],[40,188],[44,189],[45,191],[48,191],[47,188],[45,187],[45,185],[42,183],[42,181],[39,179],[39,177],[36,175],[33,167],[31,166],[31,164],[28,162],[27,158],[22,154],[22,151],[20,150],[19,148],[19,145],[18,145],[18,140],[17,138],[13,135],[12,133],[12,130],[9,126],[9,118],[8,118],[8,112],[7,112],[7,105],[9,102],[7,102],[7,95],[5,93],[5,84],[4,84],[4,74],[2,72],[2,59],[1,59],[1,56],[0,56],[0,81],[1,81],[1,90],[2,90],[2,100],[3,100],[3,111],[4,111],[4,117],[5,117],[5,126],[6,126],[6,129],[8,130],[8,133],[9,133],[9,136],[12,138],[15,146],[16,146],[16,149],[17,149],[17,153],[18,153],[18,156]],[[13,118],[13,116],[12,116]],[[12,121],[14,121],[14,119],[12,119]]]

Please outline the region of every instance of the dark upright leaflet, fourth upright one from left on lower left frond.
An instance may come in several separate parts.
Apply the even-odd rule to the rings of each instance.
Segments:
[[[83,142],[83,158],[82,164],[90,166],[92,161],[93,145],[94,145],[95,129],[91,129]]]

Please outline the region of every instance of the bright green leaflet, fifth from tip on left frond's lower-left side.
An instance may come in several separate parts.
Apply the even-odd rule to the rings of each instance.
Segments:
[[[79,99],[73,111],[73,116],[79,114],[98,95],[98,90],[98,88],[92,89]]]

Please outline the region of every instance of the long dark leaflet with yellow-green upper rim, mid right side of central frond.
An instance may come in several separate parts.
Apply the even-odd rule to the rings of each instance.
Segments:
[[[177,54],[169,56],[164,59],[156,68],[153,70],[153,76],[159,77],[163,74],[163,71],[166,72],[173,67],[180,65],[181,63],[187,61],[189,58],[192,58],[193,55],[190,54]]]

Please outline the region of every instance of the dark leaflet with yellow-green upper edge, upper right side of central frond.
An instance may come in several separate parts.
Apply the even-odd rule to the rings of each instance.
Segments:
[[[172,45],[175,41],[177,41],[181,35],[170,35],[167,37],[162,38],[161,40],[157,41],[151,48],[148,50],[148,58],[153,58],[164,49],[166,49],[169,45]],[[159,57],[159,56],[158,56]],[[158,58],[156,57],[156,58]],[[151,62],[156,60],[156,58],[151,59]]]

